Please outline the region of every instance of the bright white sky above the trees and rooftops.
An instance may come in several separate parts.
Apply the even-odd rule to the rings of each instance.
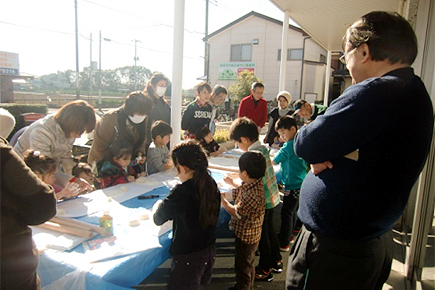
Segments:
[[[90,59],[111,70],[137,65],[172,79],[174,1],[77,0],[79,68]],[[204,75],[205,0],[185,0],[183,88]],[[4,0],[0,9],[0,51],[19,54],[21,74],[76,70],[74,0]],[[255,11],[282,21],[268,0],[210,0],[209,34]],[[92,34],[92,42],[90,41]],[[135,42],[136,40],[136,42]],[[92,43],[92,52],[91,52]]]

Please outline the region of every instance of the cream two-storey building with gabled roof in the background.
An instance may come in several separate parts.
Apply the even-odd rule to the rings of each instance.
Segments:
[[[209,80],[227,88],[245,69],[265,85],[264,98],[273,100],[279,92],[282,21],[250,12],[211,33]],[[285,89],[293,100],[322,101],[327,52],[302,29],[289,26]],[[304,76],[304,77],[302,77]],[[301,80],[304,80],[301,83]]]

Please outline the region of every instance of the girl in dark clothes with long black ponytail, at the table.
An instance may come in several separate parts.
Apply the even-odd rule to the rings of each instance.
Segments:
[[[211,280],[221,197],[207,169],[207,154],[197,142],[177,145],[171,158],[182,184],[154,205],[154,223],[173,221],[168,288],[199,289]]]

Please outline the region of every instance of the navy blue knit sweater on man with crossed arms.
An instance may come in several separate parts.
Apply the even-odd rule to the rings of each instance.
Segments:
[[[350,86],[295,137],[295,152],[307,162],[333,163],[306,176],[300,220],[340,239],[390,230],[425,163],[433,122],[431,100],[412,68]],[[343,157],[357,149],[358,161]]]

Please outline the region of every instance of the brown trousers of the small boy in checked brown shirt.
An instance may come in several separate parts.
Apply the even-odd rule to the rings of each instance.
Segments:
[[[255,280],[255,251],[258,248],[258,243],[245,244],[236,237],[235,246],[236,289],[252,290]]]

